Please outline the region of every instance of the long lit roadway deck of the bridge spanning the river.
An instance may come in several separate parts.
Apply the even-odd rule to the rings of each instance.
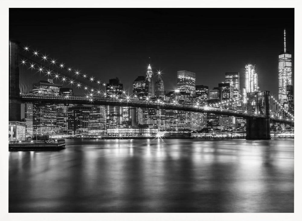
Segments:
[[[265,119],[265,115],[254,113],[243,113],[235,110],[227,110],[222,108],[214,108],[209,106],[197,106],[189,104],[177,104],[167,103],[156,100],[144,100],[141,101],[137,98],[107,98],[94,96],[93,98],[87,96],[46,96],[46,95],[33,95],[20,93],[22,103],[53,103],[53,104],[85,104],[85,105],[104,105],[104,106],[129,106],[129,107],[141,107],[141,108],[155,108],[166,110],[179,110],[190,111],[200,113],[211,113],[217,115],[226,115],[234,117],[249,118],[262,118]],[[279,122],[285,124],[294,125],[294,122],[286,119],[270,119],[271,122]]]

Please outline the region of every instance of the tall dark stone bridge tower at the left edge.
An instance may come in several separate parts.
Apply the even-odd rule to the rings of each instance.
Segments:
[[[19,42],[9,41],[9,109],[8,121],[21,121],[19,88]]]

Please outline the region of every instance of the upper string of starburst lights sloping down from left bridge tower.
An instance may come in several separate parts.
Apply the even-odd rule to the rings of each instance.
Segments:
[[[63,62],[59,63],[58,61],[56,61],[57,59],[55,59],[55,58],[53,58],[53,59],[49,58],[48,57],[49,55],[46,55],[46,54],[43,55],[42,53],[39,53],[39,51],[37,51],[37,50],[30,49],[28,46],[24,46],[23,49],[24,49],[24,51],[31,53],[32,56],[41,58],[41,61],[43,61],[43,62],[47,61],[47,62],[49,62],[52,65],[56,65],[57,67],[59,67],[61,69],[65,69],[68,72],[74,73],[76,76],[81,76],[82,78],[84,78],[86,80],[89,80],[91,82],[97,83],[98,85],[106,86],[106,83],[101,83],[101,81],[100,80],[96,80],[95,77],[88,76],[85,73],[82,74],[82,73],[80,73],[79,70],[76,70],[73,67],[67,67],[65,65],[65,63],[63,63]]]

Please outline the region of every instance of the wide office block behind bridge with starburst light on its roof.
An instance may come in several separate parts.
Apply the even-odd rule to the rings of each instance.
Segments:
[[[191,94],[184,91],[171,91],[166,94],[166,102],[175,104],[192,104]],[[190,112],[178,110],[165,111],[167,129],[190,129]]]

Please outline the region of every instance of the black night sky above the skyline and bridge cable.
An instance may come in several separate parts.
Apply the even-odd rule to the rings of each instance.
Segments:
[[[102,82],[118,77],[130,91],[151,57],[166,90],[176,88],[178,70],[210,89],[240,72],[242,88],[245,64],[255,63],[260,89],[277,95],[284,28],[294,55],[294,9],[21,8],[10,9],[9,22],[10,39]]]

